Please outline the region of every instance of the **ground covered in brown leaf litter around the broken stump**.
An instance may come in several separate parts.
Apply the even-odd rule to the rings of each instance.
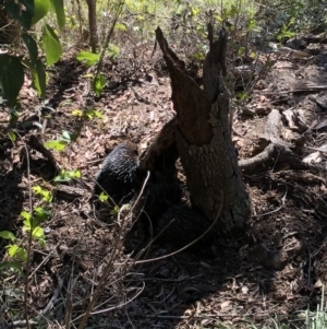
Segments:
[[[257,78],[251,98],[235,111],[232,136],[240,160],[257,154],[267,116],[278,109],[281,138],[289,143],[305,138],[299,158],[310,162],[313,169],[295,171],[286,164],[244,174],[252,202],[247,238],[218,242],[215,256],[183,252],[128,267],[129,255],[117,251],[89,328],[220,328],[221,324],[250,328],[251,324],[271,324],[271,319],[303,328],[304,310],[316,309],[327,280],[327,90],[280,92],[299,90],[299,82],[301,89],[303,82],[326,85],[327,51],[318,47],[319,55],[308,60],[271,57],[274,66]],[[93,179],[104,157],[122,140],[145,150],[174,115],[170,79],[159,50],[154,57],[145,51],[138,61],[106,63],[109,83],[88,106],[102,118],[73,115],[85,109],[89,92],[88,70],[74,55],[66,54],[51,72],[47,96],[55,111],[47,124],[27,79],[21,92],[20,138],[12,142],[0,132],[0,231],[10,230],[24,240],[20,214],[29,210],[31,187],[55,193],[48,205],[32,195],[34,208],[47,207],[52,212],[44,223],[47,246],[33,244],[28,284],[31,318],[41,314],[48,328],[59,328],[68,313],[78,324],[114,250],[117,221],[100,222],[90,205]],[[266,57],[262,55],[263,62]],[[5,111],[0,113],[0,121],[4,131]],[[44,126],[43,134],[35,122]],[[61,168],[82,172],[81,179],[66,184],[78,188],[77,195],[50,184],[49,161],[32,149],[29,179],[26,174],[29,137],[58,140],[64,130],[75,132],[76,140],[52,153]],[[1,258],[7,259],[4,245],[1,242]],[[166,252],[165,246],[154,246],[149,256]],[[0,325],[20,318],[22,296],[10,292],[23,289],[24,281],[15,275],[2,281],[5,303]]]

